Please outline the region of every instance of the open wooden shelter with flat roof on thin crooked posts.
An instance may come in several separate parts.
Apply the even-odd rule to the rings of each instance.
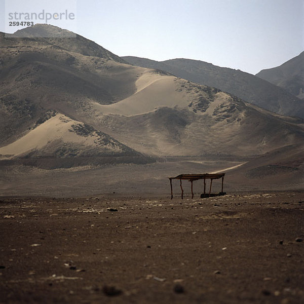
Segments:
[[[189,182],[191,182],[191,193],[193,198],[193,181],[204,179],[204,194],[201,195],[201,197],[210,197],[211,196],[211,187],[212,187],[212,180],[213,179],[222,179],[222,185],[221,185],[221,192],[219,195],[223,195],[223,182],[224,182],[224,176],[225,173],[205,173],[205,174],[179,174],[175,177],[168,177],[170,179],[170,186],[171,186],[171,200],[173,198],[173,190],[172,190],[172,179],[179,179],[180,181],[180,189],[181,189],[181,199],[183,199],[183,188],[181,185],[181,180],[186,179]],[[209,194],[206,194],[206,179],[210,179],[210,188],[209,188]]]

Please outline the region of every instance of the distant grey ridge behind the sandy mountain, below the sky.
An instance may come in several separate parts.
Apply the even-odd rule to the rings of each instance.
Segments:
[[[284,89],[241,70],[191,59],[161,62],[132,56],[123,59],[130,64],[164,70],[177,77],[218,88],[282,115],[304,118],[304,104],[301,100]]]

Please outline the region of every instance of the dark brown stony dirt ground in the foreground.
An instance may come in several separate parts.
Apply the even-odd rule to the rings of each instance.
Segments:
[[[304,192],[0,198],[0,303],[303,303]]]

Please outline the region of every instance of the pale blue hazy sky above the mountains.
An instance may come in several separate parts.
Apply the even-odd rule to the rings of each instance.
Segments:
[[[23,10],[41,3],[15,2]],[[77,32],[119,56],[190,58],[255,74],[304,50],[304,0],[60,1],[72,2]]]

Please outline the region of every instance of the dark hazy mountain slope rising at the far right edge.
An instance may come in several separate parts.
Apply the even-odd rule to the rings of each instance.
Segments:
[[[263,69],[256,76],[304,99],[304,52],[280,66]]]

